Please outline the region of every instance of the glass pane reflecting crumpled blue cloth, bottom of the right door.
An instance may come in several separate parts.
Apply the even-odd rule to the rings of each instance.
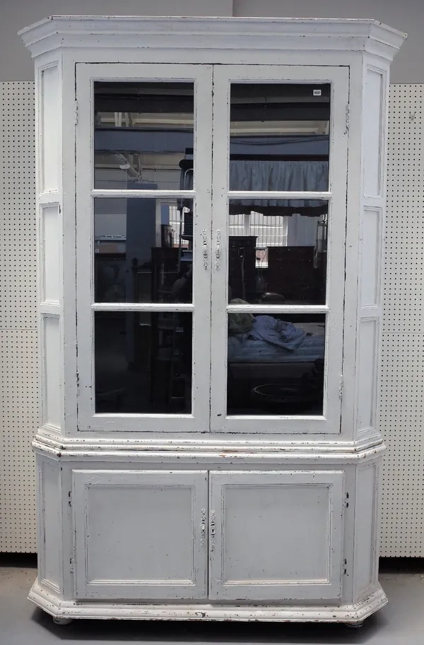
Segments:
[[[325,314],[228,314],[228,415],[322,415]]]

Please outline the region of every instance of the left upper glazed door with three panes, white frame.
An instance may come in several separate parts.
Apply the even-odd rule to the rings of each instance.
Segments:
[[[209,429],[212,69],[78,64],[78,429]]]

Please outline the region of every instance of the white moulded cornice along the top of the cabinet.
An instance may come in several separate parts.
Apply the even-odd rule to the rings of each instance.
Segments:
[[[370,43],[377,43],[381,55],[391,60],[406,39],[404,32],[371,19],[199,16],[49,16],[18,35],[33,57],[62,48],[161,47],[163,37],[170,39],[167,47],[182,49],[234,49],[243,43],[251,48],[254,37],[266,36],[254,47],[366,52]],[[146,40],[140,42],[139,37]]]

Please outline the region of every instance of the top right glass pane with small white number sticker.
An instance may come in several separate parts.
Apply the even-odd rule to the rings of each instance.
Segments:
[[[230,190],[326,191],[329,83],[233,83]]]

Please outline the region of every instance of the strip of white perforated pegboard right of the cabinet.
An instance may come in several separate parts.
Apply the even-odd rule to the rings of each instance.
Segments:
[[[424,85],[391,85],[380,373],[381,555],[424,557]]]

